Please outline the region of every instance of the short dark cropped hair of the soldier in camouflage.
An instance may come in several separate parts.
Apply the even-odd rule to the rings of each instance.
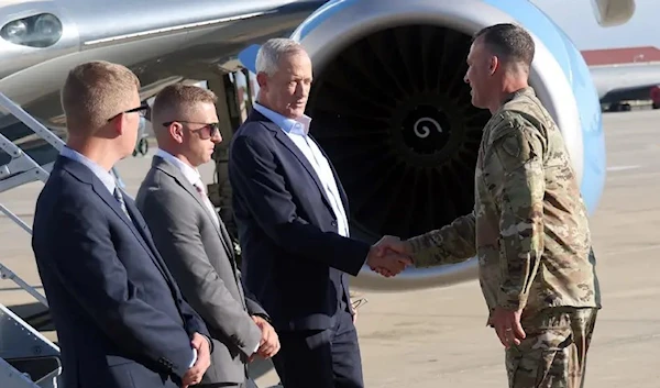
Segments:
[[[472,42],[481,38],[485,46],[503,60],[531,66],[535,44],[531,35],[521,26],[502,23],[479,31]]]

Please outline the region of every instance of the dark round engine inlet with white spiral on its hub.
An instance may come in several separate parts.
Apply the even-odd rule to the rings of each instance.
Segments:
[[[491,114],[463,81],[471,37],[404,25],[350,44],[315,75],[311,133],[350,199],[356,237],[409,237],[474,206],[474,167]]]

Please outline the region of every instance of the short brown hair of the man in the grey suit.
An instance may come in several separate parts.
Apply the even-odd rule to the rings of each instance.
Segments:
[[[167,117],[167,112],[178,113],[197,103],[215,104],[217,101],[218,97],[209,89],[185,84],[166,86],[156,95],[152,107],[154,129],[162,126],[163,118]]]

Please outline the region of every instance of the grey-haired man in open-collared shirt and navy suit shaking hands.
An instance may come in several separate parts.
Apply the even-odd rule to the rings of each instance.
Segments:
[[[409,259],[349,237],[348,201],[304,114],[311,62],[296,42],[266,42],[258,102],[234,134],[229,178],[246,288],[279,334],[286,388],[363,387],[348,275],[392,276]]]

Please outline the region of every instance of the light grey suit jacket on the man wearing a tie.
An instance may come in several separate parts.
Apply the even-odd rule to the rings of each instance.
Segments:
[[[261,340],[250,315],[267,315],[243,293],[222,220],[218,218],[218,228],[195,187],[160,156],[154,156],[135,202],[184,298],[213,339],[211,366],[202,384],[244,383],[246,359]]]

